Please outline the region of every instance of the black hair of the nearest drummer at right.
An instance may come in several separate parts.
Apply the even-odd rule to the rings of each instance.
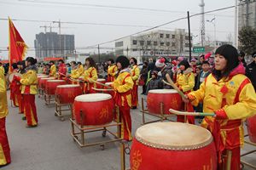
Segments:
[[[230,72],[233,71],[240,63],[240,60],[238,59],[238,52],[235,47],[233,47],[230,44],[224,44],[216,49],[215,54],[223,55],[225,59],[227,59],[227,65],[223,73],[221,71],[212,71],[213,74],[215,74],[218,79],[222,77],[228,77],[230,75]]]

